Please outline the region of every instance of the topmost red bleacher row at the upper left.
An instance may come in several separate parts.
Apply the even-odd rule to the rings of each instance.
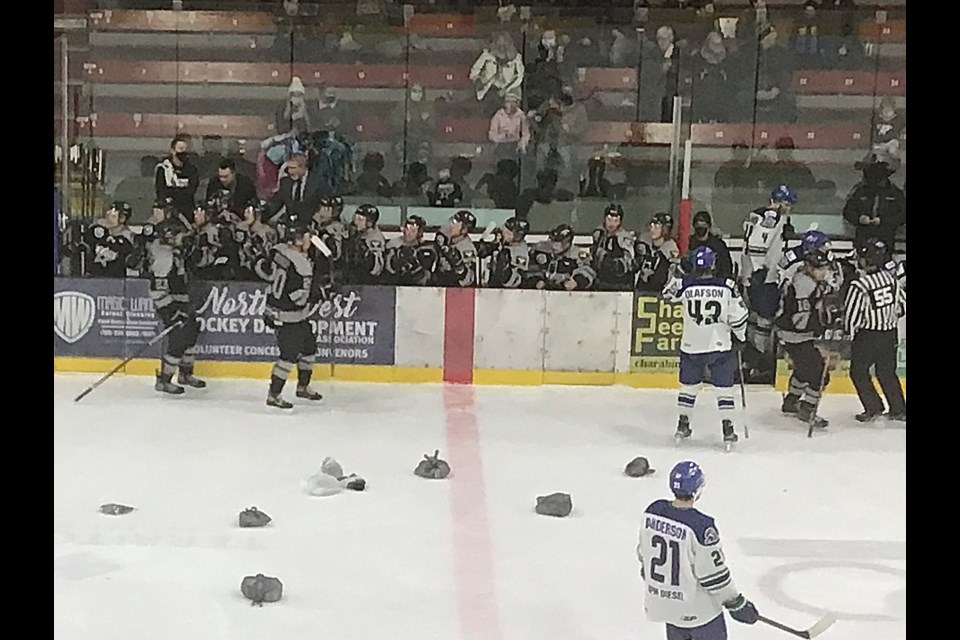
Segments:
[[[89,24],[100,31],[276,31],[270,14],[243,11],[94,11],[90,13]]]

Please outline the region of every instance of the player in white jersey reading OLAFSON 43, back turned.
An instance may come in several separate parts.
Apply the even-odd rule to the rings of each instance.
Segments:
[[[740,343],[746,339],[747,309],[737,293],[736,283],[714,275],[716,261],[713,249],[697,247],[691,256],[693,272],[672,280],[663,295],[671,302],[683,304],[677,441],[690,437],[690,414],[700,384],[709,381],[717,389],[723,441],[729,447],[738,440],[732,419],[736,407],[733,381],[737,359],[731,336],[736,336]]]

